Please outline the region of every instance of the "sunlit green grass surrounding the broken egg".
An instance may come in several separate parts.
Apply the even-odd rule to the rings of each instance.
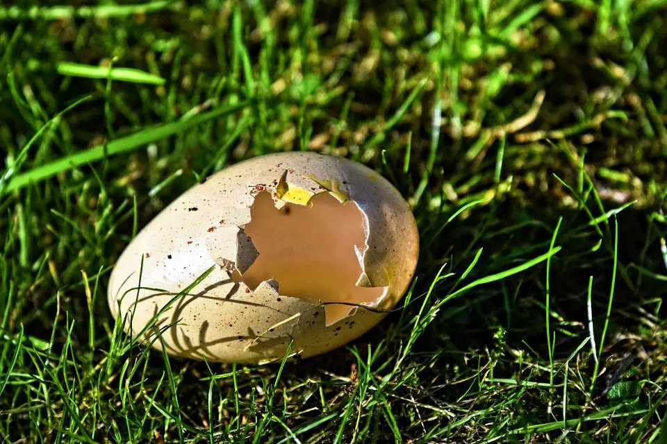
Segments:
[[[65,3],[0,6],[4,441],[667,443],[667,2]],[[125,335],[137,230],[286,150],[409,200],[400,307],[269,366]]]

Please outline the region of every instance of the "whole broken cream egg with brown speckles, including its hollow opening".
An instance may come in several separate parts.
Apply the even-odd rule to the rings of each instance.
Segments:
[[[409,205],[378,173],[331,155],[263,155],[202,180],[141,230],[108,303],[126,332],[174,357],[310,357],[381,321],[418,250]]]

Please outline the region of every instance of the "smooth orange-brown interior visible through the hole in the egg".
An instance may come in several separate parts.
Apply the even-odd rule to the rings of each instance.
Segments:
[[[362,269],[354,247],[365,245],[363,214],[352,202],[329,193],[315,194],[311,205],[275,207],[271,195],[259,193],[245,234],[259,255],[234,280],[252,290],[265,280],[278,282],[279,293],[313,304],[348,302],[373,305],[386,287],[357,287]],[[349,314],[352,305],[324,306],[327,325]]]

